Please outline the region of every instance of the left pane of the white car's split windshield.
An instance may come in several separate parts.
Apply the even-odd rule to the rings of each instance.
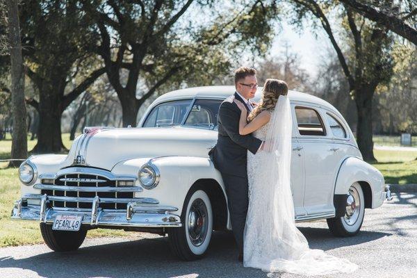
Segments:
[[[192,99],[159,104],[147,116],[143,127],[163,127],[181,124]]]

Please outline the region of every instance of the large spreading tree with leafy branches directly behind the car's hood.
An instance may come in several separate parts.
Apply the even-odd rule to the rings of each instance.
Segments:
[[[261,1],[245,1],[234,10],[214,1],[193,2],[85,1],[101,38],[95,52],[120,99],[123,126],[136,125],[140,106],[163,85],[214,79],[229,72],[236,50],[252,45],[263,51],[270,42],[277,9]],[[203,14],[203,23],[193,20]]]

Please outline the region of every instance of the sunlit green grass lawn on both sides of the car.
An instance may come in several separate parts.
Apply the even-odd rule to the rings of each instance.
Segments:
[[[70,149],[72,141],[68,133],[63,134],[64,145]],[[28,140],[31,150],[36,140]],[[0,141],[0,159],[10,158],[11,140]],[[386,183],[417,183],[417,152],[392,152],[375,150],[378,163],[375,163]],[[13,202],[20,196],[20,183],[17,169],[1,169],[7,163],[0,163],[0,247],[42,243],[39,223],[32,221],[10,220]],[[135,236],[135,233],[120,230],[95,229],[88,231],[88,237],[99,236]]]

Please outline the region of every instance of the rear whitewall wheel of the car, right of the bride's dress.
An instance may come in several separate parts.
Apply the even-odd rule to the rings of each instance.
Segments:
[[[347,193],[346,213],[342,217],[328,218],[327,225],[335,236],[356,235],[361,229],[365,214],[365,199],[361,185],[353,183]]]

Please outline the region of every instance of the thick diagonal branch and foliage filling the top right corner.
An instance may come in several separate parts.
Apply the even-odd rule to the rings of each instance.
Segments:
[[[417,1],[340,0],[355,12],[417,45]]]

